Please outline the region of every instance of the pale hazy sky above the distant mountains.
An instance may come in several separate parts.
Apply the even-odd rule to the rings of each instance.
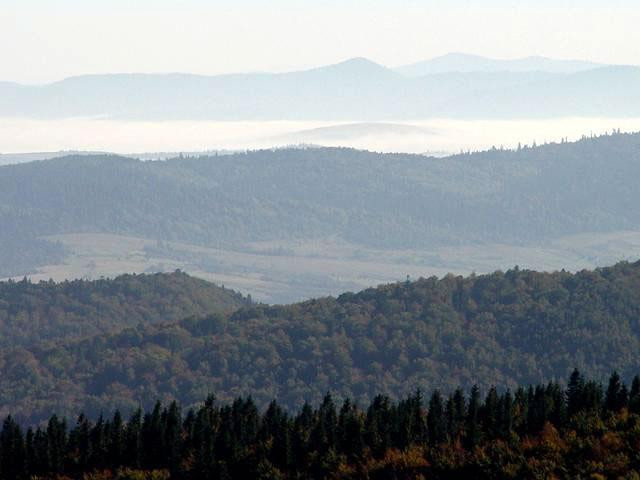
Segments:
[[[448,52],[640,64],[640,0],[0,0],[0,80],[284,71]]]

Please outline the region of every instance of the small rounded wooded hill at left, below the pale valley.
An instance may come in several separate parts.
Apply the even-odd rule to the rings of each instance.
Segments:
[[[68,341],[190,315],[230,313],[248,300],[182,272],[96,281],[0,282],[0,347]],[[4,369],[3,369],[4,372]]]

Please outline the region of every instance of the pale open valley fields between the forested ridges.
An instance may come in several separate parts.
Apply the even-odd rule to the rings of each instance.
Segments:
[[[515,265],[578,271],[640,257],[640,232],[636,231],[578,234],[544,246],[488,244],[431,250],[372,249],[335,238],[253,242],[236,250],[112,234],[62,234],[46,239],[59,242],[70,253],[62,263],[43,265],[30,273],[33,281],[181,269],[266,303],[337,295],[407,276],[489,273]]]

